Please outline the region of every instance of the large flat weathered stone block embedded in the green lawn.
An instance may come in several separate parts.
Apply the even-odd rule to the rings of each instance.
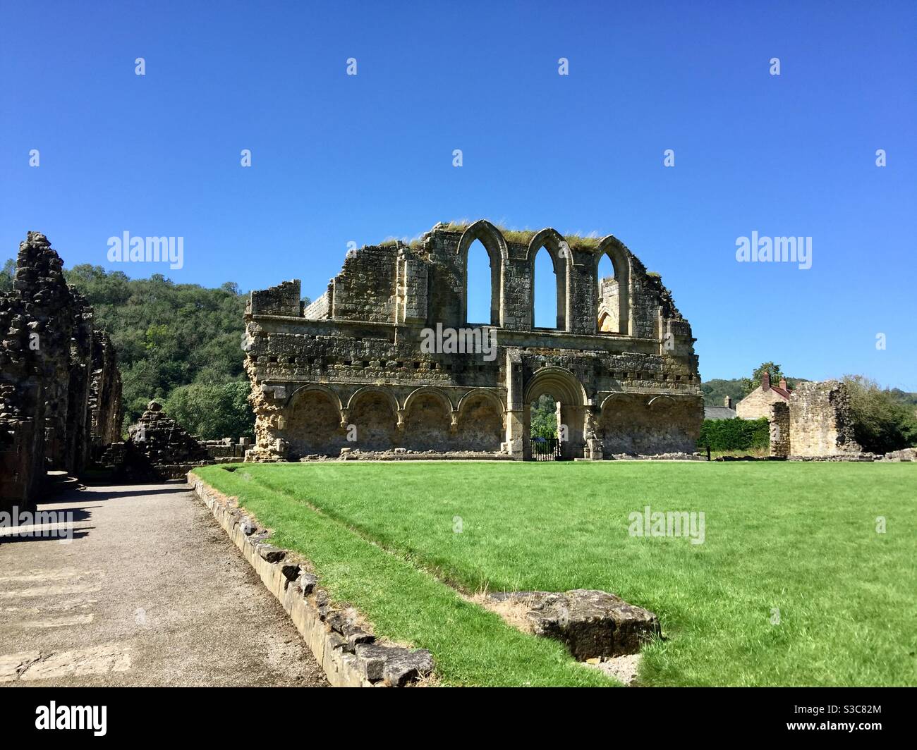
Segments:
[[[653,612],[607,591],[497,592],[491,598],[525,606],[532,632],[567,645],[580,661],[637,654],[641,645],[660,634]]]

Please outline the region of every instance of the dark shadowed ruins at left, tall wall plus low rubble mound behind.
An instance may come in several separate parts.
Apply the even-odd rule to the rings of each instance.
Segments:
[[[76,486],[86,469],[160,481],[244,458],[249,438],[198,440],[155,401],[122,441],[115,347],[62,269],[48,238],[29,232],[14,287],[0,293],[0,511]]]

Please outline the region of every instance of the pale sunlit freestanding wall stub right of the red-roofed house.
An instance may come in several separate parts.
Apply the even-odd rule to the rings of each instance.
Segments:
[[[790,455],[834,456],[860,450],[844,383],[799,383],[790,395]]]

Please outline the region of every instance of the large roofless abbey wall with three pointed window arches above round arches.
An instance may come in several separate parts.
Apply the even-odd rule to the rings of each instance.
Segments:
[[[659,278],[615,237],[512,237],[521,239],[483,220],[439,224],[411,245],[351,250],[308,308],[299,281],[252,292],[245,348],[256,446],[247,458],[345,447],[530,458],[529,405],[544,393],[567,427],[562,458],[692,453],[703,414],[695,339]],[[466,314],[475,240],[491,260],[483,322]],[[533,325],[540,248],[557,274],[550,329]],[[613,279],[598,278],[604,255]],[[430,332],[472,328],[484,342],[495,337],[495,357],[422,347]]]

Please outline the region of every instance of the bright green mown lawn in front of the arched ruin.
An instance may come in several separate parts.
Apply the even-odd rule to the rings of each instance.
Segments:
[[[450,685],[602,685],[463,600],[613,591],[656,612],[644,685],[917,684],[917,467],[807,463],[245,464],[198,473]],[[702,544],[629,515],[704,513]],[[877,518],[885,519],[878,533]],[[457,532],[460,526],[460,533]]]

